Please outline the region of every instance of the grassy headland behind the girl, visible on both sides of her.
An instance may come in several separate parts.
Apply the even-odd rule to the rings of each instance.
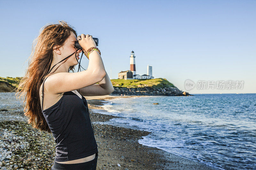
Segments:
[[[0,77],[0,92],[14,92],[21,77]],[[110,95],[145,95],[145,96],[189,96],[165,78],[154,79],[111,79],[114,92]]]

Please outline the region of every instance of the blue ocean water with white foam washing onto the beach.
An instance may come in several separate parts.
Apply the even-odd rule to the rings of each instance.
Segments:
[[[152,132],[140,144],[216,169],[256,169],[256,94],[119,98],[103,107],[122,117],[110,121]]]

